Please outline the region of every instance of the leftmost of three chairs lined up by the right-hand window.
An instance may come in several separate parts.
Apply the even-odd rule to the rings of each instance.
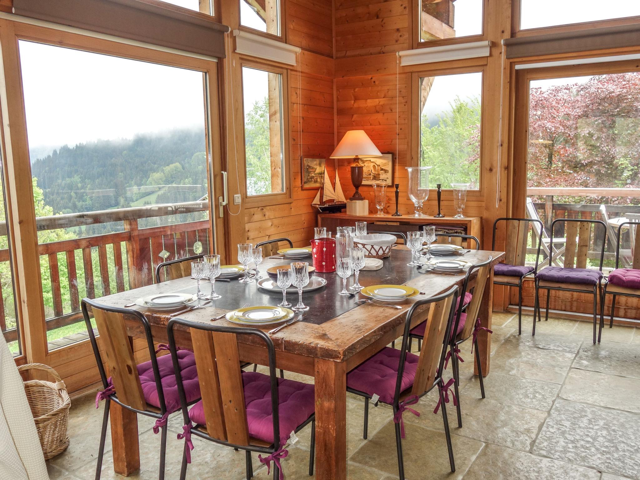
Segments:
[[[504,242],[504,262],[500,262],[493,268],[493,285],[506,285],[518,287],[518,335],[522,334],[522,282],[533,275],[534,281],[538,272],[538,259],[540,259],[541,236],[533,234],[531,241],[538,237],[536,250],[536,266],[525,266],[527,258],[527,243],[529,243],[529,227],[537,225],[538,231],[542,231],[544,225],[540,220],[532,218],[499,218],[493,222],[493,239],[491,249],[495,250],[495,232],[499,223],[506,223],[506,235]],[[533,229],[535,231],[535,229]],[[534,246],[534,245],[532,245]]]

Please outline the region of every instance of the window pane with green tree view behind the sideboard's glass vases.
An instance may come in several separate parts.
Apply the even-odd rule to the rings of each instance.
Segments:
[[[420,165],[429,182],[480,187],[482,73],[420,77]]]

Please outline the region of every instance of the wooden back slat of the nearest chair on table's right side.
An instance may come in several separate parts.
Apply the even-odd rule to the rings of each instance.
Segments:
[[[431,304],[424,329],[418,367],[413,380],[412,394],[423,394],[435,381],[442,355],[442,345],[449,322],[454,295]]]

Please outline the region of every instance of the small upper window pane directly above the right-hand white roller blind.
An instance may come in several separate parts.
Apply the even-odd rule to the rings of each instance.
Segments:
[[[419,0],[419,6],[421,42],[483,33],[483,0]]]

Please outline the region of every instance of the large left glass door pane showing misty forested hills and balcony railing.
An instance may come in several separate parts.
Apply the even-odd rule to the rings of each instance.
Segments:
[[[20,40],[49,349],[79,300],[208,250],[204,74]]]

